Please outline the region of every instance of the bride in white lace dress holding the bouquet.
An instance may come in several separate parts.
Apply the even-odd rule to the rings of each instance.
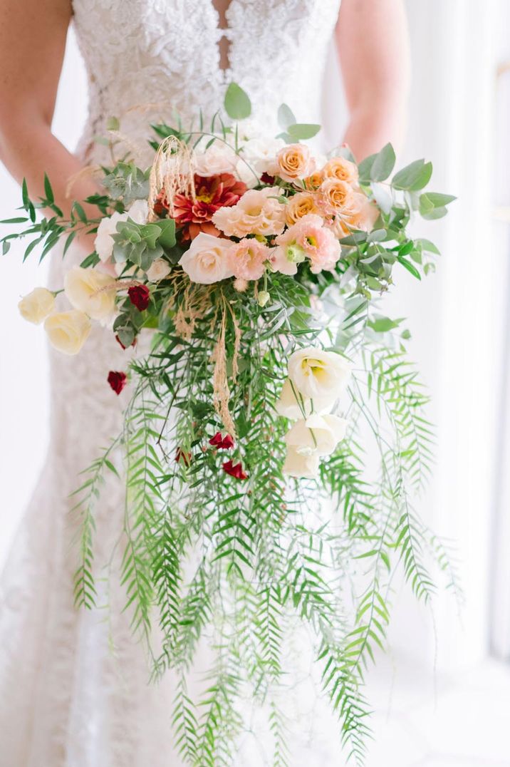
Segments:
[[[75,155],[51,133],[71,21],[90,83],[90,114]],[[282,102],[298,120],[320,123],[332,35],[350,117],[338,140],[360,159],[388,140],[398,143],[403,130],[403,0],[0,0],[0,159],[16,179],[27,179],[33,197],[44,194],[48,171],[55,201],[69,212],[71,199],[97,191],[81,171],[103,160],[94,137],[108,117],[120,118],[143,156],[150,122],[171,124],[174,110],[185,122],[199,108],[210,116],[235,81],[250,95],[255,127],[264,133],[277,132]],[[93,249],[94,238],[83,238],[66,262],[79,263]],[[60,287],[61,270],[54,256],[51,288]],[[108,370],[123,369],[129,355],[111,337],[96,328],[79,356],[51,353],[48,459],[0,581],[2,767],[181,764],[171,731],[172,681],[147,683],[143,648],[123,612],[119,562],[111,554],[123,514],[118,482],[107,484],[96,509],[103,566],[97,604],[104,609],[74,608],[69,495],[78,472],[118,432],[129,397],[105,386]],[[206,650],[199,661],[206,670]],[[293,686],[289,710],[301,736],[290,764],[340,764],[334,723],[324,723],[306,688],[295,692],[298,680]],[[247,722],[236,765],[268,763],[251,727]]]

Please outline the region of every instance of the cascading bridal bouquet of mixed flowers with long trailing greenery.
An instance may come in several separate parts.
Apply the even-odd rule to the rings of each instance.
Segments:
[[[390,145],[358,166],[344,147],[303,143],[319,127],[282,105],[281,134],[250,133],[248,96],[231,84],[209,130],[153,126],[153,166],[123,156],[101,170],[104,194],[65,219],[45,199],[25,229],[44,258],[61,239],[96,232],[95,252],[64,278],[68,311],[36,288],[20,302],[51,344],[77,354],[91,323],[123,347],[153,328],[150,353],[112,370],[133,390],[120,436],[80,489],[78,605],[93,607],[94,502],[104,472],[126,481],[123,582],[133,630],[153,671],[173,668],[173,726],[190,765],[230,764],[250,690],[267,705],[274,764],[286,762],[278,711],[289,621],[314,637],[322,690],[357,763],[369,732],[364,673],[385,644],[398,568],[417,597],[433,594],[446,550],[411,505],[432,456],[427,397],[406,357],[402,320],[380,311],[405,270],[420,279],[436,247],[408,225],[446,214],[451,196],[425,192],[431,163],[393,173]],[[110,121],[112,156],[122,146]],[[39,221],[36,209],[51,216]],[[377,456],[367,469],[364,456]],[[371,463],[373,463],[370,458]],[[354,583],[354,585],[352,585]],[[352,600],[354,599],[354,609]],[[153,634],[159,624],[154,650]],[[200,700],[186,679],[202,637],[216,663]]]

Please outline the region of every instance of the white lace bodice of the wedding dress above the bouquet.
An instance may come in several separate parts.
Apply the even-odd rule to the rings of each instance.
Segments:
[[[235,81],[252,99],[256,127],[271,132],[278,106],[320,122],[321,82],[341,0],[231,0],[227,27],[212,0],[74,0],[74,25],[90,81],[81,150],[107,117],[140,142],[150,120],[185,124],[221,107]],[[229,39],[229,67],[219,40]],[[95,145],[94,159],[101,149]],[[88,152],[90,156],[90,151]]]

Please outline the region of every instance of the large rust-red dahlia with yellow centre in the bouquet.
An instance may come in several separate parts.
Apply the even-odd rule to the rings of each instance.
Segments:
[[[246,191],[246,184],[238,181],[232,173],[219,176],[195,176],[196,199],[177,194],[174,200],[174,218],[182,227],[183,239],[193,239],[199,232],[219,235],[211,222],[219,208],[235,205]]]

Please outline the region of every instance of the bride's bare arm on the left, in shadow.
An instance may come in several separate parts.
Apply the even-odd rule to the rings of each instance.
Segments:
[[[71,0],[0,0],[0,160],[15,179],[27,179],[32,197],[44,196],[46,171],[64,216],[81,163],[52,135],[51,120],[71,13]],[[72,198],[95,192],[90,178],[81,179]]]

